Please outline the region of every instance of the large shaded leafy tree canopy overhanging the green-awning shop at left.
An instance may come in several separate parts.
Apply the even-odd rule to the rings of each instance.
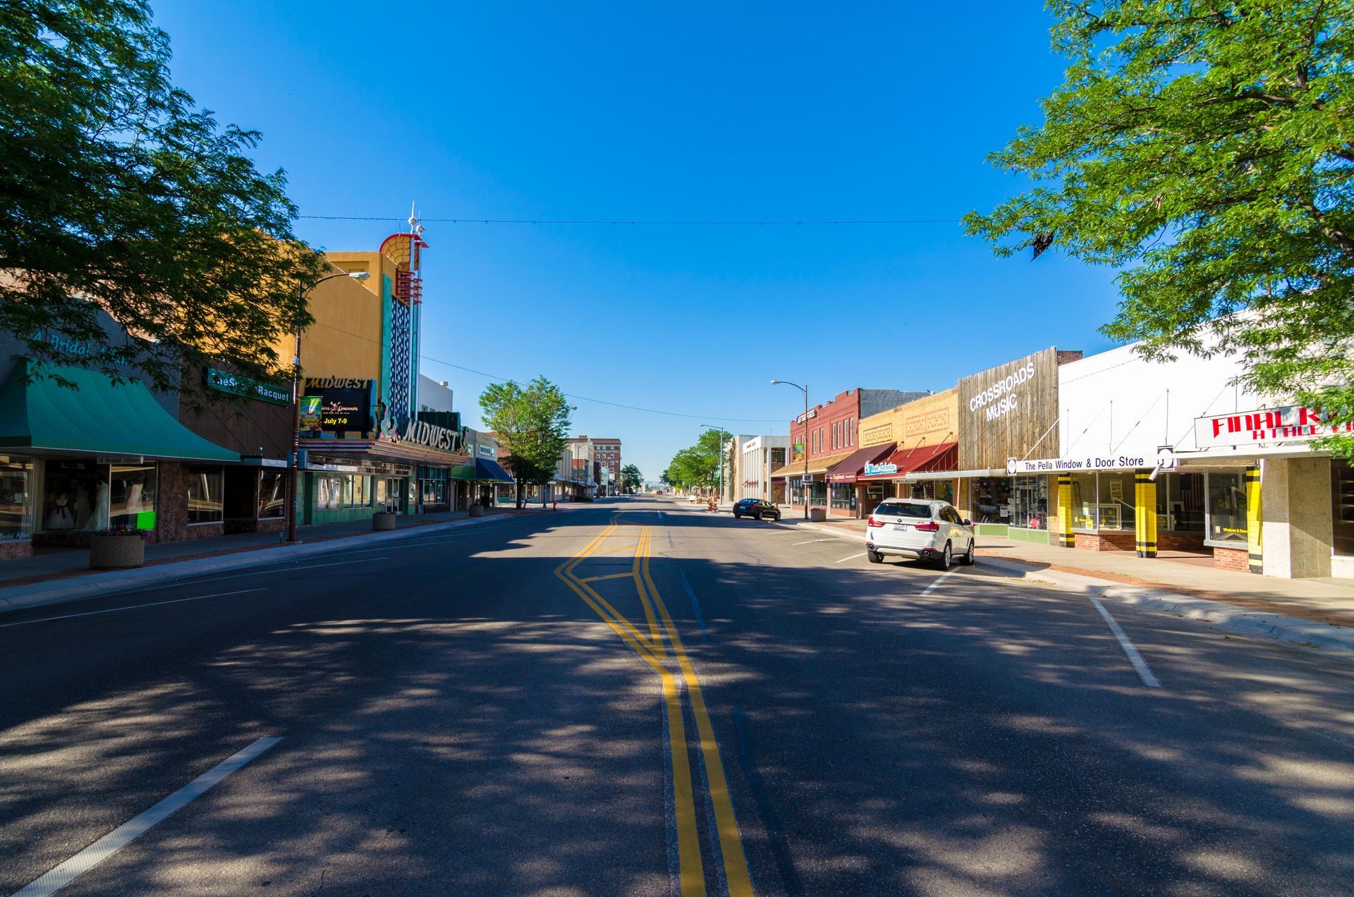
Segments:
[[[142,0],[0,3],[0,328],[27,339],[35,374],[290,373],[271,347],[310,322],[324,260],[291,230],[283,173],[245,154],[259,134],[218,127],[169,57]]]

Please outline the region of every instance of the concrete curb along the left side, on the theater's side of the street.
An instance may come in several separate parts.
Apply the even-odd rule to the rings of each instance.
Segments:
[[[357,545],[380,545],[416,535],[436,535],[447,530],[456,530],[467,526],[483,526],[508,520],[519,515],[502,514],[487,518],[464,518],[448,520],[445,523],[428,523],[424,526],[410,526],[389,533],[363,533],[324,542],[309,542],[292,546],[260,546],[245,549],[236,554],[222,554],[218,557],[194,558],[185,561],[169,561],[156,566],[142,566],[133,570],[112,570],[108,573],[89,573],[80,577],[61,579],[51,583],[32,583],[28,585],[11,585],[0,588],[0,614],[5,611],[24,610],[28,607],[42,607],[45,604],[61,604],[77,602],[85,598],[100,595],[114,595],[145,585],[158,585],[179,579],[202,576],[204,573],[219,573],[223,570],[238,570],[249,566],[264,566],[268,564],[286,564],[287,561],[347,551]]]

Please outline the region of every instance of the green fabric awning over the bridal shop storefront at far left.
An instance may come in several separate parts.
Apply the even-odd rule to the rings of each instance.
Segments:
[[[240,461],[175,420],[141,381],[115,386],[97,371],[53,367],[26,383],[27,370],[20,362],[0,389],[0,449]],[[53,374],[79,389],[62,386]]]

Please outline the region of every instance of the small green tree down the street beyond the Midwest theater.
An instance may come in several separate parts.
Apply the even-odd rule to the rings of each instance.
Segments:
[[[574,406],[558,386],[538,377],[525,386],[492,383],[479,396],[479,408],[505,453],[504,466],[517,480],[520,508],[524,486],[543,486],[554,478]]]

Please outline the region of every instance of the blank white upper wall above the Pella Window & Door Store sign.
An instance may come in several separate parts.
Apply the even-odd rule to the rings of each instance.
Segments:
[[[1194,450],[1194,419],[1251,411],[1259,400],[1229,381],[1240,373],[1235,356],[1181,355],[1150,362],[1124,346],[1057,369],[1059,451],[1036,455],[1155,457],[1159,446]]]

